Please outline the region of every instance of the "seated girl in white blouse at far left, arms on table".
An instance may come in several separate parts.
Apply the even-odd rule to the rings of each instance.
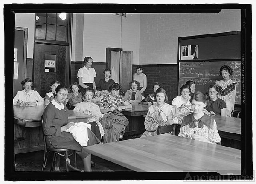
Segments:
[[[27,106],[27,105],[44,105],[44,99],[37,91],[31,89],[32,80],[26,78],[20,82],[24,90],[18,91],[13,98],[13,105]]]

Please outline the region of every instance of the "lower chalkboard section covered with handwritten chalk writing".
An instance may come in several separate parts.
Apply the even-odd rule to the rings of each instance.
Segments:
[[[209,85],[223,79],[219,69],[229,65],[233,69],[230,79],[236,82],[236,104],[241,104],[241,60],[239,61],[201,61],[179,62],[179,89],[188,80],[195,82],[196,91],[207,92]]]

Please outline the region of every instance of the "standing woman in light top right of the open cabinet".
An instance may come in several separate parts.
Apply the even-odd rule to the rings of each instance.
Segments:
[[[141,91],[141,94],[145,96],[144,91],[147,88],[147,76],[142,73],[143,72],[143,67],[142,65],[138,65],[136,67],[136,73],[133,75],[133,79],[140,82],[140,87],[137,88],[137,90]]]

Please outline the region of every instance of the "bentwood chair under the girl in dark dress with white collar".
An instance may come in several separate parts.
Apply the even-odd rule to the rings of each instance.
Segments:
[[[41,116],[41,123],[43,125],[43,115]],[[76,164],[76,152],[74,150],[69,149],[57,149],[52,147],[47,147],[46,141],[45,141],[45,135],[43,130],[43,139],[44,139],[44,163],[41,171],[44,171],[47,163],[47,158],[49,156],[50,152],[53,152],[53,159],[52,159],[52,167],[51,171],[53,170],[53,166],[55,164],[55,170],[59,170],[59,164],[60,164],[60,156],[64,156],[65,159],[68,159],[69,156],[75,155],[75,168],[77,167]],[[72,151],[72,153],[68,154],[69,151]],[[64,154],[62,154],[64,152]]]

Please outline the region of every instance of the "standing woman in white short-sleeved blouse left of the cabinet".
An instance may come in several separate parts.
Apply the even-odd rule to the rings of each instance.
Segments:
[[[94,77],[96,77],[96,72],[94,68],[91,68],[93,64],[93,59],[91,57],[84,58],[84,67],[80,68],[77,72],[78,84],[81,87],[80,92],[84,91],[85,88],[91,87],[96,90],[96,85]]]

